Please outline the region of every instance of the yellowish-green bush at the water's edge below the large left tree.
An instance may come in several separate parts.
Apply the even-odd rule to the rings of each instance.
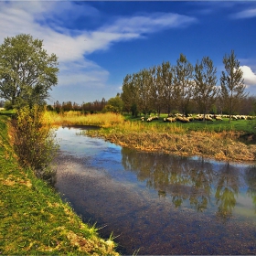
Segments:
[[[10,130],[20,164],[52,182],[50,163],[58,153],[59,144],[50,124],[46,123],[44,111],[37,105],[17,110]]]

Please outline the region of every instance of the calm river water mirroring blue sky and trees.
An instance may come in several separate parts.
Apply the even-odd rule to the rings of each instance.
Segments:
[[[57,137],[55,187],[122,254],[256,254],[255,165],[139,152],[80,128]]]

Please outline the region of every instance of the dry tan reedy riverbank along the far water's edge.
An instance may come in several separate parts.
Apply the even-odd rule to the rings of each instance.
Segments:
[[[114,144],[147,152],[171,155],[197,155],[221,161],[255,161],[256,145],[243,144],[236,133],[165,133],[151,130],[129,131],[119,128],[94,130],[93,137],[103,137]]]

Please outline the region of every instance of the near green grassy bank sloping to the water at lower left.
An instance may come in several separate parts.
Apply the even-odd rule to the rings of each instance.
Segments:
[[[0,115],[0,254],[117,255],[112,240],[84,224],[69,204],[16,160]]]

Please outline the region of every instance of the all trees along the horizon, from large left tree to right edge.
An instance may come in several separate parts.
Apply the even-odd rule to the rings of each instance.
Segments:
[[[0,46],[0,97],[5,107],[45,105],[53,86],[58,83],[58,58],[48,55],[43,41],[21,34],[6,37]],[[160,114],[200,112],[206,114],[248,114],[255,112],[255,97],[245,93],[240,62],[234,50],[223,57],[224,70],[217,79],[213,61],[204,57],[193,66],[180,54],[176,65],[161,65],[127,74],[123,91],[105,101],[54,102],[49,110],[57,112],[130,112]],[[3,101],[1,101],[3,105]]]

